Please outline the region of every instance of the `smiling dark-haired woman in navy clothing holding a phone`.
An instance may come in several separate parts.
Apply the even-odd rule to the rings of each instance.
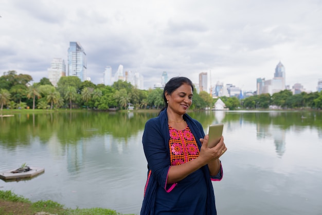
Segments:
[[[217,214],[211,181],[220,181],[223,137],[208,148],[200,122],[187,115],[193,85],[185,77],[169,80],[166,107],[147,121],[142,142],[148,180],[141,214]]]

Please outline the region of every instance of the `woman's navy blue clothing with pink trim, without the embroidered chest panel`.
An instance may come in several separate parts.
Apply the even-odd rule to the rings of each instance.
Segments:
[[[199,139],[205,136],[201,124],[187,114],[184,115],[184,119],[193,134],[193,141],[200,150]],[[174,156],[173,149],[170,150],[170,139],[167,112],[164,110],[158,117],[148,120],[142,138],[149,169],[141,214],[216,215],[211,180],[221,180],[222,168],[218,175],[210,176],[206,165],[180,182],[167,184],[171,165],[189,161]]]

